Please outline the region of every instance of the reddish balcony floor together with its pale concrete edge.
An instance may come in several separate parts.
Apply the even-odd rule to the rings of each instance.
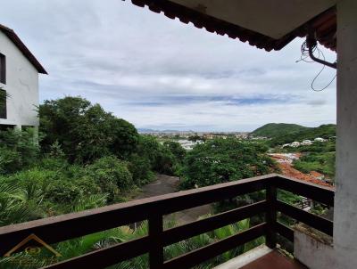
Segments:
[[[277,250],[261,246],[236,257],[214,269],[307,269],[294,259],[285,257]]]

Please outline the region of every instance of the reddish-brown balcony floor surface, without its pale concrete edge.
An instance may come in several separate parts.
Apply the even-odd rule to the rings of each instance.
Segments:
[[[306,266],[295,262],[293,259],[283,256],[278,251],[270,253],[254,260],[253,262],[239,267],[241,269],[307,269]]]

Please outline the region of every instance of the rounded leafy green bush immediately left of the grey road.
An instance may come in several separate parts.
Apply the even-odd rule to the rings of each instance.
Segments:
[[[108,193],[109,201],[115,200],[120,191],[128,190],[134,184],[128,163],[112,156],[88,165],[85,174],[95,180],[102,192]]]

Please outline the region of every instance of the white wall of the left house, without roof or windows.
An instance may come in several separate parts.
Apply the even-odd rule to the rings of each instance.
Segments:
[[[10,97],[7,118],[1,125],[38,126],[38,72],[12,41],[0,31],[0,53],[6,57],[6,85],[0,83]]]

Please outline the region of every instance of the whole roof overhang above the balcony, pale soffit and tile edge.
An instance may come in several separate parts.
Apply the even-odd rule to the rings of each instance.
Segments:
[[[321,45],[336,51],[333,0],[131,0],[174,20],[193,23],[218,35],[237,38],[266,51],[280,50],[309,29]],[[280,8],[279,8],[280,6]]]

